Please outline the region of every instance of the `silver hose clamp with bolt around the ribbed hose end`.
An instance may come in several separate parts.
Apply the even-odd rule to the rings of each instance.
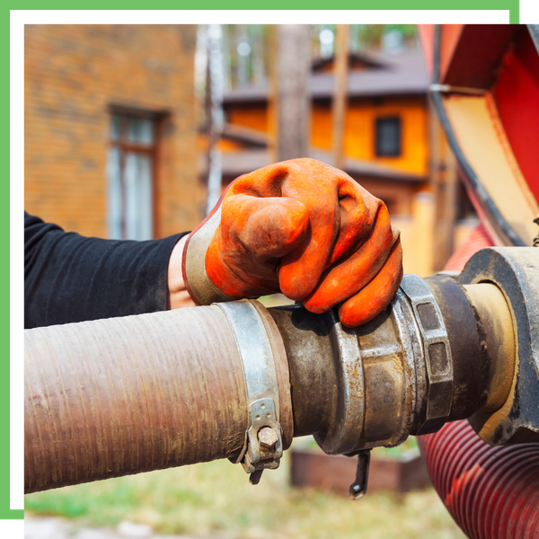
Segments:
[[[240,454],[232,462],[241,463],[249,481],[257,484],[265,469],[278,468],[283,455],[279,423],[278,377],[268,334],[256,307],[248,300],[218,305],[234,333],[242,359],[247,396],[249,429]]]

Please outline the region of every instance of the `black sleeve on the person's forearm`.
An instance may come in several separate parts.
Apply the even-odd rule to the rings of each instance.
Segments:
[[[164,311],[169,258],[185,234],[104,240],[22,211],[22,329]]]

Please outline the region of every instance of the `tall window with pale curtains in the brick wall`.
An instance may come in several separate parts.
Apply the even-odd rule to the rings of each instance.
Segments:
[[[154,163],[154,120],[112,114],[108,155],[110,238],[152,238]]]

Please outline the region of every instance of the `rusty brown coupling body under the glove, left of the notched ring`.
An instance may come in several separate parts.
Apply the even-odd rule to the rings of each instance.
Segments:
[[[423,344],[402,289],[383,314],[355,329],[342,326],[335,311],[269,311],[287,349],[295,436],[314,435],[325,453],[352,455],[396,446],[424,422]]]

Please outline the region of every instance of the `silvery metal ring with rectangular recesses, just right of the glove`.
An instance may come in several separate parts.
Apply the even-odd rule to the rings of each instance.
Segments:
[[[446,324],[435,297],[422,278],[405,275],[401,289],[410,300],[423,342],[429,378],[426,423],[444,418],[453,403],[453,361]]]

